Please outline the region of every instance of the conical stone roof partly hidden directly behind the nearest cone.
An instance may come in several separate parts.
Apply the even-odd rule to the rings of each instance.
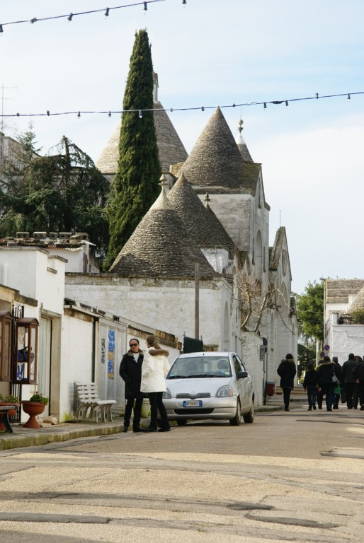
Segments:
[[[234,257],[235,245],[209,206],[204,206],[182,174],[168,194],[190,237],[200,247],[224,247],[229,258]]]

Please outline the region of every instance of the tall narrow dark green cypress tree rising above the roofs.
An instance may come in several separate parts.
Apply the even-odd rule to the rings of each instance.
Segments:
[[[157,136],[153,118],[153,64],[147,30],[135,33],[123,110],[118,172],[108,205],[108,269],[159,194]],[[142,111],[140,110],[150,110]]]

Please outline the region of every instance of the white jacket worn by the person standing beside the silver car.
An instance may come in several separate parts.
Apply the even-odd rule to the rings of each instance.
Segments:
[[[166,392],[164,375],[169,371],[168,351],[149,347],[144,351],[141,392]]]

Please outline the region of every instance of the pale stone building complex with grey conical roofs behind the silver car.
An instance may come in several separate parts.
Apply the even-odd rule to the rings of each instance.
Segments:
[[[297,356],[297,320],[285,228],[269,247],[269,206],[261,165],[232,132],[220,108],[184,163],[171,165],[161,194],[109,274],[67,274],[67,296],[103,303],[176,337],[194,336],[195,263],[199,332],[205,349],[234,350],[254,378],[256,403],[280,359]],[[254,332],[241,329],[241,270],[260,295],[272,291]],[[262,349],[264,347],[264,349]]]

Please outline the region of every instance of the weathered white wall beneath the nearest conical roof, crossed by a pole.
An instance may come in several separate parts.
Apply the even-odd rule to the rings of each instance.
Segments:
[[[152,329],[181,339],[194,337],[194,282],[169,279],[125,279],[118,276],[67,274],[66,296],[93,307],[108,308]],[[224,279],[200,281],[200,335],[205,344],[220,346],[225,302],[231,288]]]

